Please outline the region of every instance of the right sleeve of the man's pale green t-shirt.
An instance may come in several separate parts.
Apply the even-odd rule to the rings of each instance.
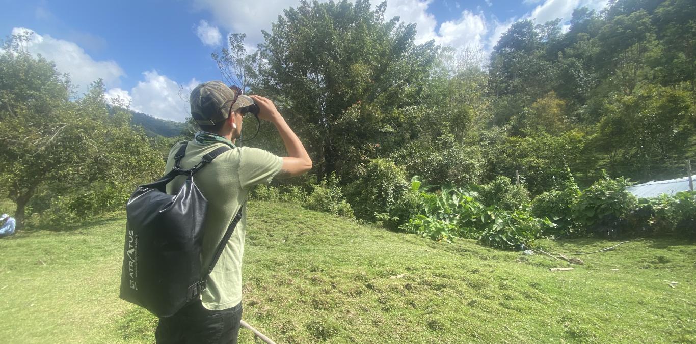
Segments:
[[[253,147],[242,147],[239,157],[239,182],[248,190],[256,184],[268,184],[283,167],[283,158]]]

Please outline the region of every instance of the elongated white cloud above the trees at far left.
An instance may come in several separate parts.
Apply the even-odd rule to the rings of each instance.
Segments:
[[[72,84],[79,93],[86,92],[88,86],[97,79],[103,79],[106,87],[120,84],[123,69],[113,60],[94,60],[84,49],[74,42],[58,40],[50,35],[39,35],[29,28],[13,28],[12,34],[31,33],[24,49],[33,55],[41,55],[56,63],[61,73],[69,73]]]

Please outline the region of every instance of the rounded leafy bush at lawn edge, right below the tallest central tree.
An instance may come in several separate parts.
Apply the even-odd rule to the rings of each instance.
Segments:
[[[397,205],[404,206],[408,202],[400,202],[408,192],[405,172],[402,167],[388,159],[374,159],[367,167],[365,174],[350,183],[346,188],[346,196],[352,204],[357,218],[363,220],[399,221],[396,214]],[[403,209],[400,209],[400,213]],[[403,218],[405,222],[407,218]]]

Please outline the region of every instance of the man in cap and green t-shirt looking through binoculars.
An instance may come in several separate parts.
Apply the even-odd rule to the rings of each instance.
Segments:
[[[270,183],[274,177],[293,177],[312,168],[307,151],[299,138],[285,123],[276,106],[258,95],[248,97],[238,88],[220,81],[198,85],[191,92],[191,116],[200,127],[188,143],[182,168],[196,165],[201,157],[217,147],[231,150],[218,156],[194,177],[196,186],[208,200],[203,234],[203,266],[212,261],[215,247],[239,211],[246,205],[246,196],[253,186]],[[242,133],[241,108],[257,104],[258,117],[275,124],[285,143],[287,157],[251,147],[237,147],[235,140]],[[174,145],[167,158],[166,171],[172,170]],[[167,185],[173,195],[184,182],[179,176]],[[160,318],[155,338],[157,343],[237,343],[239,321],[242,320],[242,256],[246,235],[246,207],[242,220],[226,243],[219,261],[207,279],[207,288],[200,301],[190,304],[169,318]]]

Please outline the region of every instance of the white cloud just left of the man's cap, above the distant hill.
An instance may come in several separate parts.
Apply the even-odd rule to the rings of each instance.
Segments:
[[[121,97],[130,101],[132,110],[163,120],[183,122],[189,117],[188,99],[191,90],[198,85],[196,79],[180,88],[175,81],[155,70],[143,72],[143,76],[145,81],[139,81],[130,91],[112,88],[106,92],[106,98],[112,101]]]

